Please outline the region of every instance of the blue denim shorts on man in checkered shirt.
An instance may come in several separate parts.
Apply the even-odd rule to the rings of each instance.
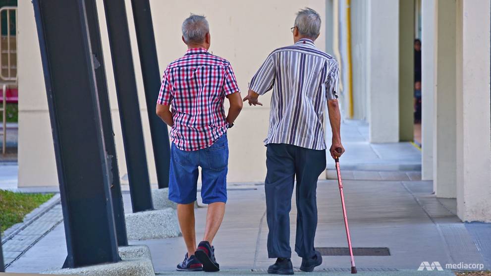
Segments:
[[[227,202],[228,140],[223,134],[213,145],[197,151],[170,149],[169,200],[179,204],[196,201],[198,167],[204,204]]]

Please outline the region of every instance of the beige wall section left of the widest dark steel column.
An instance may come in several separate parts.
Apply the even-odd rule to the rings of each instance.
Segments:
[[[58,186],[48,99],[31,1],[18,1],[17,30],[18,186]]]

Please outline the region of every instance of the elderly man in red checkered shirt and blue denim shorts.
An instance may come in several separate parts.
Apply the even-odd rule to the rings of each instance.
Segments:
[[[191,14],[182,23],[184,56],[164,72],[157,114],[171,127],[169,199],[177,216],[187,253],[178,271],[219,270],[212,246],[225,213],[228,166],[227,129],[242,109],[230,62],[212,55],[210,30],[204,16]],[[230,102],[225,116],[224,99]],[[172,107],[172,109],[171,109]],[[201,167],[203,203],[208,204],[205,235],[196,247],[194,202]]]

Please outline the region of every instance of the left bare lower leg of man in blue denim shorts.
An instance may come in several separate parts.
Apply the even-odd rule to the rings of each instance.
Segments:
[[[182,237],[186,243],[188,257],[196,251],[196,232],[194,229],[194,202],[177,204],[177,218],[181,227]]]

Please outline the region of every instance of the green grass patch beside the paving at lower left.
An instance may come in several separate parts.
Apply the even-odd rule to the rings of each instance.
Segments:
[[[0,232],[22,222],[25,215],[51,197],[53,194],[23,194],[0,190]]]

